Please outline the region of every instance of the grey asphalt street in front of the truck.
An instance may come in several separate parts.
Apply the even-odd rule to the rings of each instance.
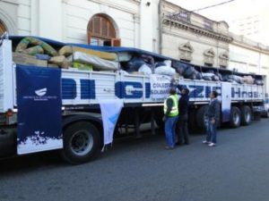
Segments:
[[[121,138],[92,163],[56,152],[0,161],[0,201],[268,201],[269,120],[221,129],[218,146],[164,150],[162,135]]]

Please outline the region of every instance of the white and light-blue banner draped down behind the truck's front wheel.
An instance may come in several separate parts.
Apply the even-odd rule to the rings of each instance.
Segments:
[[[113,133],[117,119],[123,107],[123,101],[100,100],[99,102],[104,128],[104,145],[108,145],[113,142]]]

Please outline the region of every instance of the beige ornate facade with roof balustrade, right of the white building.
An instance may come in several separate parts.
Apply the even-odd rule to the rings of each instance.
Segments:
[[[189,63],[228,67],[229,26],[161,1],[161,54]]]

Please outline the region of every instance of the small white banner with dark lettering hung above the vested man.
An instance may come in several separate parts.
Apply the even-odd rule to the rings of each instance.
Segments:
[[[163,100],[169,96],[171,78],[166,75],[151,75],[152,99]]]

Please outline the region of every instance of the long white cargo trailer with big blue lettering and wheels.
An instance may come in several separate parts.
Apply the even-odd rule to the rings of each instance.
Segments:
[[[155,124],[163,127],[163,101],[171,87],[168,76],[17,64],[13,63],[12,43],[12,39],[5,38],[0,46],[1,157],[59,149],[69,163],[93,160],[104,147],[106,122],[100,110],[103,100],[123,104],[115,122],[114,138],[129,135],[130,128],[140,137],[140,126],[145,122],[151,122],[152,133]],[[102,50],[101,47],[84,47]],[[104,47],[103,50],[142,52],[160,61],[170,59],[134,48]],[[262,85],[182,77],[176,80],[176,85],[190,90],[189,124],[192,128],[204,130],[204,114],[213,90],[220,94],[221,123],[229,123],[232,128],[249,125],[262,112],[265,99]],[[125,131],[121,132],[123,129]]]

